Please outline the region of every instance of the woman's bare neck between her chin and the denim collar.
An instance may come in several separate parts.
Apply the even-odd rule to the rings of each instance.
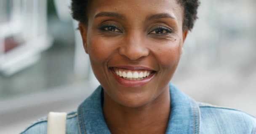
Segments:
[[[111,134],[165,134],[170,103],[169,87],[139,108],[122,106],[104,93],[103,111]]]

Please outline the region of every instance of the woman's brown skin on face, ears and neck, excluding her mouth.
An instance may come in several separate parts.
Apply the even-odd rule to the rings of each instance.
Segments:
[[[143,6],[141,6],[143,5]],[[104,117],[112,134],[165,134],[171,80],[188,31],[176,0],[93,0],[79,24],[85,52],[104,88]],[[154,70],[144,85],[127,87],[110,68]]]

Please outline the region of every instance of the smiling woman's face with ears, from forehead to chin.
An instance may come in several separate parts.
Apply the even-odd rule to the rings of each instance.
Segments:
[[[182,22],[177,0],[93,0],[79,28],[105,95],[140,107],[168,90],[187,35]]]

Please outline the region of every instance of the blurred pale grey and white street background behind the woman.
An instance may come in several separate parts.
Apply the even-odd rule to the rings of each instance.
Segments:
[[[70,112],[99,85],[69,0],[0,0],[0,134]],[[201,0],[172,82],[256,116],[256,1]]]

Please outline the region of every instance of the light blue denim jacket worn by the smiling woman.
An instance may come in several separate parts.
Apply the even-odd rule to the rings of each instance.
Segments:
[[[232,108],[199,103],[170,83],[171,112],[166,134],[256,134],[256,118]],[[111,134],[102,111],[102,87],[67,115],[66,134]],[[57,124],[56,124],[57,125]],[[21,134],[47,134],[47,117]]]

